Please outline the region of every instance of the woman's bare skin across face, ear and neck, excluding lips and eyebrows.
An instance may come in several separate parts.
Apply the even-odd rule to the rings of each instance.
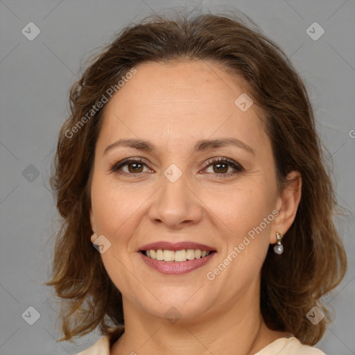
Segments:
[[[91,189],[92,230],[112,243],[101,257],[123,295],[125,333],[111,354],[245,355],[292,336],[266,327],[259,284],[269,244],[295,218],[300,174],[292,172],[294,182],[278,191],[262,112],[257,105],[239,110],[234,101],[248,86],[220,64],[144,62],[136,69],[105,107]],[[196,141],[225,137],[240,139],[254,154],[236,146],[193,153]],[[123,138],[150,141],[157,150],[115,147],[104,153]],[[121,167],[123,175],[112,172],[114,164],[131,157],[144,159],[137,175],[134,164]],[[232,159],[244,170],[205,167],[212,157]],[[176,182],[164,175],[171,164],[182,172]],[[207,279],[274,209],[278,216],[220,275]],[[137,252],[162,240],[204,243],[217,254],[193,272],[162,275]],[[164,317],[171,306],[181,314],[175,324]]]

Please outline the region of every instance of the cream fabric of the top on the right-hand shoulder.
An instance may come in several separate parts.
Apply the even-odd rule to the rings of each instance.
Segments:
[[[300,340],[295,337],[279,338],[273,343],[264,347],[260,352],[254,355],[326,355],[316,347],[303,345]]]

